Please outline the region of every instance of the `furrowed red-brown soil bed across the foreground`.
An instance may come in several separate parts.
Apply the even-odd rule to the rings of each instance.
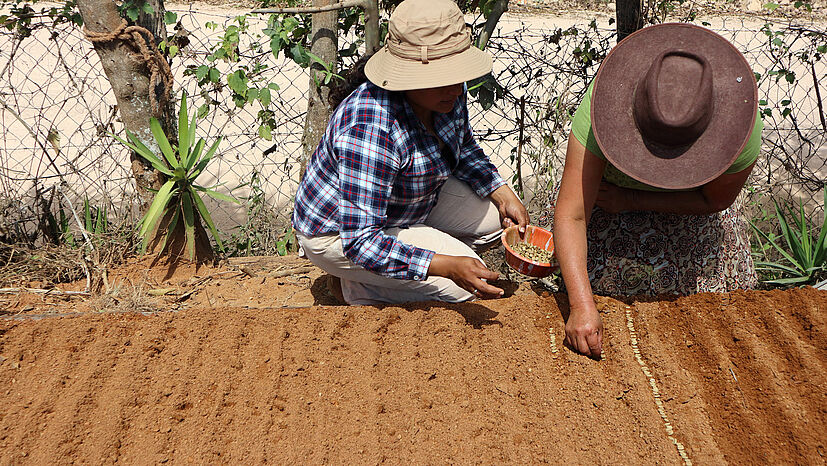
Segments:
[[[824,291],[601,297],[593,361],[527,283],[346,307],[297,258],[144,265],[110,286],[162,312],[0,295],[0,464],[825,462]]]

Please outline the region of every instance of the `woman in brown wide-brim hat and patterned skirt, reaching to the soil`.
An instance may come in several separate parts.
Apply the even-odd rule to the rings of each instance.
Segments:
[[[761,145],[746,59],[690,24],[644,28],[577,109],[554,210],[566,342],[599,357],[593,293],[691,294],[757,284],[736,201]]]

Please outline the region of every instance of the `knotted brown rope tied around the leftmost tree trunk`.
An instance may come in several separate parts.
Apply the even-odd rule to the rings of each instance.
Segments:
[[[141,26],[129,26],[125,19],[121,19],[121,24],[112,32],[94,32],[84,26],[83,33],[93,44],[121,40],[131,44],[132,48],[137,50],[132,55],[143,60],[149,67],[149,102],[152,113],[159,115],[172,92],[172,71],[169,69],[169,63],[155,46],[152,33]],[[155,91],[158,86],[162,86],[163,89],[160,101]]]

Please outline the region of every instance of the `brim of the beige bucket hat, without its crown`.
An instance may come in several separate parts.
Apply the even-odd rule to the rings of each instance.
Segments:
[[[383,47],[368,60],[365,75],[382,89],[410,91],[464,83],[490,73],[492,66],[491,55],[474,46],[428,63],[397,57]]]

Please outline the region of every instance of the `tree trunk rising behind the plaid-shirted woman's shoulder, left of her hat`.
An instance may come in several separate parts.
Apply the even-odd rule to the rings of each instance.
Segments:
[[[327,6],[332,3],[331,0],[313,0],[313,6]],[[338,10],[325,11],[314,13],[312,19],[313,29],[311,33],[313,39],[310,52],[325,63],[329,63],[333,72],[336,72],[336,54],[339,46],[336,31],[338,16]],[[330,86],[324,84],[324,71],[324,68],[318,63],[313,62],[310,66],[310,91],[307,96],[307,116],[304,122],[304,134],[302,135],[303,151],[300,169],[302,178],[307,168],[307,160],[316,150],[316,146],[322,139],[324,130],[327,127],[327,122],[330,120],[331,108],[327,102],[328,95],[330,95]],[[333,79],[337,78],[332,78],[330,84],[333,84]]]

